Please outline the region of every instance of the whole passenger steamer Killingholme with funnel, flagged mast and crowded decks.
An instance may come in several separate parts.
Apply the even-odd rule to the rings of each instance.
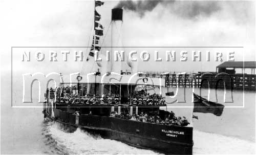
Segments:
[[[95,7],[100,6],[99,3],[103,4],[96,1]],[[95,10],[95,16],[98,15]],[[112,47],[119,46],[120,38],[115,33],[120,33],[121,25],[122,9],[112,9]],[[93,50],[99,50],[96,44],[100,34],[96,30]],[[94,53],[91,52],[88,59],[93,56]],[[58,88],[47,89],[47,102],[44,103],[45,117],[135,147],[166,154],[192,154],[191,125],[181,126],[156,121],[156,118],[164,120],[169,112],[160,110],[161,106],[166,106],[165,100],[161,94],[150,94],[152,91],[149,91],[149,88],[153,89],[153,92],[154,88],[157,88],[161,93],[164,79],[149,78],[142,73],[135,73],[136,66],[131,62],[127,62],[131,67],[127,72],[121,71],[120,61],[106,62],[104,65],[108,65],[108,69],[104,69],[102,63],[98,64],[99,70],[93,75],[77,76],[76,83],[62,81]],[[141,88],[144,88],[143,91],[138,90]],[[155,120],[136,121],[116,117],[135,114],[139,116],[142,113],[155,116],[153,117]]]

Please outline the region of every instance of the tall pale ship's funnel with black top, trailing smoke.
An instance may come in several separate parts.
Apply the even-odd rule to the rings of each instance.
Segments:
[[[117,58],[115,61],[115,51],[118,51],[121,55],[122,47],[122,19],[123,9],[115,8],[112,9],[111,17],[111,51],[110,51],[110,65],[109,71],[120,74],[122,70],[122,62]]]

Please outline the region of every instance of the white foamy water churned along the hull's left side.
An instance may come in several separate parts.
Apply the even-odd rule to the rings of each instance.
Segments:
[[[55,153],[68,154],[159,154],[146,149],[139,149],[124,143],[102,139],[98,135],[92,135],[87,131],[77,128],[74,132],[67,131],[59,123],[46,122],[46,128],[42,131],[46,136],[46,142],[55,147]]]

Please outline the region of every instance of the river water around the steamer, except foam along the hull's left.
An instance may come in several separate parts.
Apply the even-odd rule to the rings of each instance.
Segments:
[[[138,149],[114,140],[102,139],[80,128],[70,129],[56,122],[44,121],[40,107],[11,107],[11,81],[1,77],[1,84],[1,153],[159,154],[152,150]],[[172,91],[175,89],[172,88]],[[166,91],[166,88],[162,90]],[[186,88],[185,91],[184,93],[184,89],[180,88],[176,99],[182,102],[185,96],[186,103],[168,104],[167,109],[173,110],[177,115],[188,117],[191,108],[173,107],[191,106],[193,90]],[[195,89],[195,92],[199,94],[198,89]],[[38,92],[33,91],[32,94],[36,96]],[[193,153],[255,154],[255,93],[245,92],[243,98],[242,91],[233,91],[233,103],[223,102],[224,91],[217,94],[218,102],[226,106],[222,116],[194,113],[199,119],[193,119]],[[207,90],[203,90],[202,96],[206,95]],[[215,100],[212,96],[210,93],[210,100]],[[229,97],[230,92],[227,91],[226,99]],[[169,102],[172,100],[167,98]],[[22,104],[22,86],[13,87],[13,103]]]

